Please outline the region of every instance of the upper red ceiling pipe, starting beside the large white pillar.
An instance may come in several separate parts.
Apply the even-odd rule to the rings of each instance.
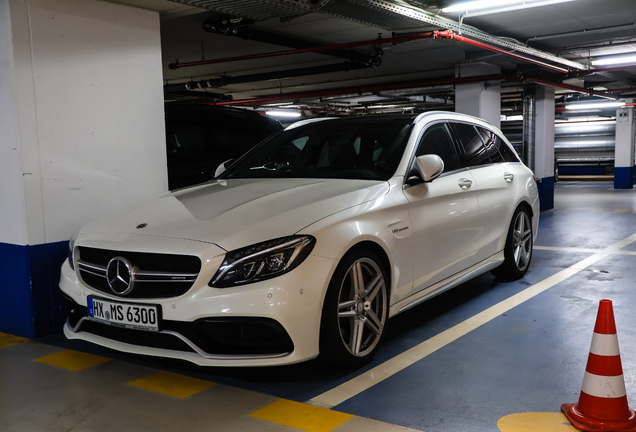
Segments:
[[[331,51],[331,50],[337,50],[337,49],[355,48],[355,47],[369,46],[369,45],[410,42],[410,41],[420,40],[420,39],[432,39],[435,37],[433,33],[434,32],[420,33],[417,35],[410,35],[410,36],[396,36],[396,37],[387,38],[387,39],[383,39],[380,36],[377,39],[360,41],[360,42],[349,42],[349,43],[337,44],[337,45],[324,45],[324,46],[313,47],[313,48],[274,51],[274,52],[263,53],[263,54],[251,54],[251,55],[245,55],[245,56],[226,57],[226,58],[220,58],[220,59],[214,59],[214,60],[201,60],[201,61],[188,62],[188,63],[176,62],[176,63],[170,63],[168,67],[170,69],[179,69],[182,67],[201,66],[201,65],[216,64],[216,63],[227,63],[227,62],[233,62],[233,61],[239,61],[239,60],[253,60],[253,59],[259,59],[259,58],[279,57],[279,56],[285,56],[285,55],[305,54],[305,53],[320,52],[320,51]]]

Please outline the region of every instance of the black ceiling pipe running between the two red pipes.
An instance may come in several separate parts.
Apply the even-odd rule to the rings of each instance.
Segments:
[[[232,84],[244,84],[248,82],[278,80],[278,79],[285,79],[285,78],[295,78],[295,77],[301,77],[301,76],[319,75],[319,74],[327,74],[327,73],[335,73],[335,72],[348,72],[351,70],[367,69],[370,67],[371,66],[363,64],[363,63],[344,62],[344,63],[336,63],[336,64],[329,64],[329,65],[323,65],[323,66],[312,66],[312,67],[299,68],[299,69],[282,70],[282,71],[276,71],[276,72],[264,72],[264,73],[240,75],[240,76],[234,76],[234,77],[224,76],[221,78],[212,78],[212,79],[200,80],[200,81],[190,81],[190,82],[178,83],[178,84],[166,84],[163,86],[163,90],[166,93],[171,93],[171,92],[183,91],[183,90],[218,88],[218,87],[225,87]]]

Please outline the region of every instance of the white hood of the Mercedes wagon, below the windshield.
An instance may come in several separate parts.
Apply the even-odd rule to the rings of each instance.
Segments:
[[[386,181],[217,180],[89,223],[82,232],[175,237],[233,250],[295,234],[320,219],[388,191]]]

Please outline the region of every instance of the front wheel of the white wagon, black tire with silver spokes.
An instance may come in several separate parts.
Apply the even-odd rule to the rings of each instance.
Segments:
[[[359,367],[375,355],[389,316],[388,277],[368,249],[347,253],[334,272],[320,322],[320,359],[338,367]]]

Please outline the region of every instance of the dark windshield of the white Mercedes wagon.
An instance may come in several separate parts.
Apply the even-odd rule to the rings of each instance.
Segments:
[[[262,143],[222,177],[388,180],[411,128],[410,118],[309,123]]]

